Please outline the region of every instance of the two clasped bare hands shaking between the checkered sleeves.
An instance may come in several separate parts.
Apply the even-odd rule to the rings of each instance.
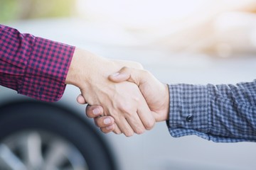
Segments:
[[[76,49],[66,84],[78,86],[78,103],[102,132],[127,137],[169,117],[169,88],[137,62],[107,60]]]

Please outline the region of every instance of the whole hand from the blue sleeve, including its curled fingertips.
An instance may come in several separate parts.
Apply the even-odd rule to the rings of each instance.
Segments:
[[[166,84],[162,84],[152,74],[142,69],[132,69],[124,67],[119,72],[112,74],[109,79],[114,82],[130,81],[139,86],[146,103],[154,113],[157,122],[168,119],[169,113],[169,89]],[[84,102],[82,96],[78,96],[78,102]],[[97,110],[98,114],[93,114]],[[113,120],[110,117],[102,116],[103,109],[100,106],[87,106],[87,116],[95,118],[95,124],[102,132],[111,132],[114,129]],[[106,119],[106,120],[105,120]],[[107,121],[111,119],[111,121]],[[105,123],[104,123],[105,120]],[[107,123],[107,124],[106,124]]]

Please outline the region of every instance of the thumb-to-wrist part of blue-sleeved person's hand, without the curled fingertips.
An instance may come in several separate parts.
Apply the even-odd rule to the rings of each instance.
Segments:
[[[150,110],[157,113],[154,114],[156,122],[168,119],[169,88],[150,72],[144,69],[123,67],[119,72],[110,75],[109,79],[117,83],[126,80],[137,84]]]

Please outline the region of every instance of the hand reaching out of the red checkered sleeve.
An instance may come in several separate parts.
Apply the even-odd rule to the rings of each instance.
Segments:
[[[66,83],[78,86],[88,104],[102,106],[104,115],[114,118],[116,133],[141,134],[151,129],[155,120],[136,84],[128,81],[116,84],[108,79],[122,67],[120,62],[76,49]]]

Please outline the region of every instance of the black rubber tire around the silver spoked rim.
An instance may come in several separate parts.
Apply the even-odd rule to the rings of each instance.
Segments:
[[[12,152],[11,154],[15,154],[17,152],[8,148],[7,145],[10,143],[12,143],[12,146],[20,145],[18,144],[18,138],[16,141],[10,137],[19,137],[18,134],[23,134],[22,132],[25,134],[33,132],[33,135],[46,133],[48,136],[50,134],[52,138],[57,137],[70,143],[82,154],[86,162],[86,167],[80,167],[80,169],[116,169],[110,148],[102,139],[102,136],[91,127],[90,123],[86,123],[78,114],[62,106],[37,101],[23,101],[2,106],[0,108],[0,157],[1,152],[5,153],[4,157],[6,157],[6,153]],[[51,145],[51,143],[46,142],[46,145]],[[44,152],[42,151],[42,155],[45,154]],[[23,162],[22,154],[17,153],[15,157]],[[45,155],[42,157],[45,157]],[[24,165],[28,166],[26,163]],[[42,167],[37,167],[37,169],[43,169]],[[61,168],[58,167],[58,169]]]

